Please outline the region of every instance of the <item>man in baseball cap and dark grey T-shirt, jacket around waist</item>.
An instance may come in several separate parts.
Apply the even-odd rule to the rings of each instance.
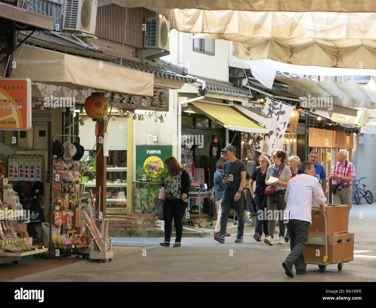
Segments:
[[[220,233],[214,236],[214,240],[224,243],[224,234],[226,234],[230,209],[234,208],[238,216],[238,234],[235,243],[243,243],[245,202],[243,188],[246,184],[246,164],[235,157],[236,149],[234,146],[228,145],[221,151],[224,152],[224,157],[227,159],[223,163],[222,180],[226,186],[224,187],[221,203],[221,229]]]

